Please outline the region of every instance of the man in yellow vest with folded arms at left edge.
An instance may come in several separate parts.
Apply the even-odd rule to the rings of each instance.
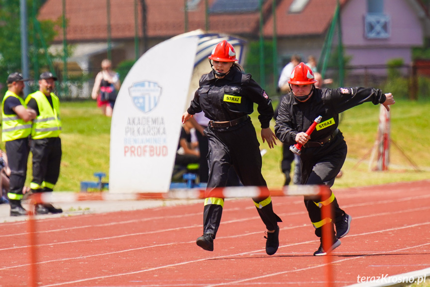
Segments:
[[[1,102],[1,140],[5,142],[10,167],[10,188],[7,193],[10,216],[27,215],[21,206],[22,188],[27,175],[31,120],[36,117],[36,112],[24,103],[24,81],[28,79],[24,79],[20,73],[11,73],[7,77],[7,91]]]

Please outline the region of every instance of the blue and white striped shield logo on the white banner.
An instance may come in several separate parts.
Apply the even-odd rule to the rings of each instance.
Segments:
[[[158,83],[143,81],[134,83],[129,88],[129,93],[135,106],[147,113],[157,105],[161,95],[161,87]]]

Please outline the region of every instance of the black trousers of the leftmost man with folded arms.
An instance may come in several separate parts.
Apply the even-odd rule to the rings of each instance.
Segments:
[[[10,168],[9,192],[22,195],[22,188],[27,176],[27,161],[30,148],[28,138],[6,141],[5,143],[8,164]],[[12,199],[10,205],[18,204],[20,199]]]

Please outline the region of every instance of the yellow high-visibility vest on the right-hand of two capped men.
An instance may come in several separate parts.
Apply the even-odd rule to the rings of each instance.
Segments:
[[[36,100],[37,107],[39,108],[39,115],[33,120],[31,138],[44,139],[58,137],[61,133],[61,120],[59,117],[60,101],[58,97],[54,93],[51,93],[53,108],[41,91],[29,94],[25,99],[25,103],[28,104],[31,98]]]

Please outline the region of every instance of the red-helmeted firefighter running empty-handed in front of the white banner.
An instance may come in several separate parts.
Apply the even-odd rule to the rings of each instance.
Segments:
[[[257,103],[260,113],[263,142],[267,141],[270,148],[276,144],[275,134],[269,127],[274,113],[272,101],[251,74],[243,72],[237,60],[235,49],[229,42],[223,40],[218,43],[209,56],[212,71],[200,78],[199,88],[182,115],[183,123],[201,111],[210,119],[204,131],[209,142],[209,180],[204,202],[203,235],[196,242],[208,251],[213,251],[213,240],[224,206],[224,199],[211,197],[210,192],[226,186],[229,168],[234,167],[245,186],[267,187],[261,174],[260,143],[249,117],[254,103]],[[253,200],[268,230],[266,253],[273,255],[279,247],[278,222],[281,219],[273,211],[270,196]]]

